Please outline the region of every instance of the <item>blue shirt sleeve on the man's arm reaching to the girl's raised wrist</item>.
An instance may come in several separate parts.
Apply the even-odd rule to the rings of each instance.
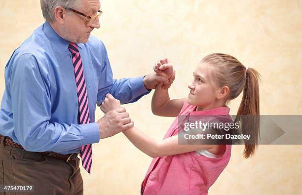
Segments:
[[[102,42],[101,42],[102,43]],[[103,43],[102,43],[103,44]],[[100,106],[104,101],[106,94],[110,93],[118,99],[121,104],[136,102],[151,90],[147,90],[142,77],[113,79],[111,65],[105,45],[103,44],[103,66],[99,79],[97,105]]]

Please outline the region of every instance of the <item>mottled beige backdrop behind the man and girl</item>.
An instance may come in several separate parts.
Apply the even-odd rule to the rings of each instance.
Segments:
[[[114,78],[148,74],[168,57],[176,69],[170,96],[181,98],[202,57],[224,52],[261,73],[262,115],[302,115],[302,0],[103,0],[101,8],[93,35],[107,46]],[[2,97],[11,53],[43,18],[39,0],[0,0],[0,18]],[[151,97],[125,107],[138,128],[162,139],[174,118],[153,116]],[[231,114],[239,103],[230,104]],[[233,147],[209,195],[302,194],[302,146],[260,146],[252,159],[242,152]],[[95,144],[93,157],[92,174],[82,171],[85,194],[139,194],[151,157],[122,134]]]

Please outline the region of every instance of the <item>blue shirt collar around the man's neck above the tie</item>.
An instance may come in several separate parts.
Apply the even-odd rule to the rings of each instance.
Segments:
[[[48,22],[44,23],[43,31],[50,42],[58,49],[60,54],[68,49],[69,41],[60,37]],[[84,46],[83,43],[76,43],[76,45],[80,48]]]

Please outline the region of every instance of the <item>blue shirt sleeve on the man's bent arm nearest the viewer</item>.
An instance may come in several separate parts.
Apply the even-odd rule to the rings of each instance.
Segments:
[[[70,151],[99,142],[97,123],[50,123],[51,78],[32,54],[23,54],[11,64],[11,104],[14,133],[27,151]]]

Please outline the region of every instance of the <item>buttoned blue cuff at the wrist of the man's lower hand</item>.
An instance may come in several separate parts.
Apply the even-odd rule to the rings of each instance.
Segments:
[[[82,124],[82,132],[83,132],[83,145],[93,144],[100,142],[100,131],[99,125],[96,122]]]

